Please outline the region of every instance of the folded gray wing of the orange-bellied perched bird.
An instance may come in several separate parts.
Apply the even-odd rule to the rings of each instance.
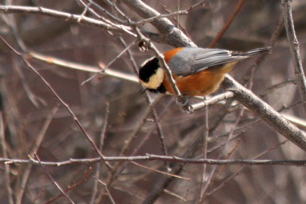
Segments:
[[[243,53],[229,50],[185,47],[183,50],[179,51],[176,56],[171,58],[168,65],[173,74],[177,76],[186,76],[247,57],[249,56],[243,55]]]

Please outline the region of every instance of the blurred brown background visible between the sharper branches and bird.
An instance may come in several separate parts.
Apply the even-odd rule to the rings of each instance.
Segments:
[[[105,1],[95,1],[101,7],[117,15]],[[126,16],[137,21],[141,18],[133,13],[120,1],[113,1]],[[167,13],[177,10],[177,1],[144,1],[148,6],[159,13]],[[187,9],[198,1],[181,1],[180,9]],[[12,5],[41,6],[67,13],[81,14],[84,7],[78,1],[50,1],[32,0],[11,1]],[[190,38],[200,47],[207,47],[219,30],[232,15],[237,6],[237,0],[209,1],[207,6],[192,10],[187,15],[179,17],[179,23],[184,27]],[[8,1],[1,1],[1,5],[8,5]],[[165,7],[164,7],[165,6]],[[304,67],[306,50],[306,2],[304,0],[293,0],[293,20],[300,43],[300,55]],[[97,13],[109,19],[109,17],[92,6]],[[165,9],[166,8],[166,9]],[[269,40],[283,13],[283,7],[279,0],[254,0],[246,1],[229,29],[222,36],[215,47],[229,50],[251,50],[267,46]],[[95,18],[90,12],[88,17]],[[135,38],[127,34],[110,35],[109,33],[95,27],[83,24],[69,23],[42,15],[29,14],[1,14],[0,34],[18,51],[16,36],[24,43],[26,51],[33,51],[50,57],[57,57],[69,62],[81,63],[98,67],[98,63],[107,65],[112,61],[125,46]],[[9,20],[7,20],[9,19]],[[169,18],[174,24],[173,18]],[[13,32],[14,28],[17,34]],[[145,24],[140,29],[157,32],[151,24]],[[137,43],[136,43],[137,44]],[[142,53],[137,45],[131,47],[130,51],[136,61],[137,67],[150,56],[152,52]],[[160,52],[170,50],[173,47],[166,44],[155,43]],[[58,106],[57,99],[51,94],[41,80],[14,54],[7,46],[1,43],[0,52],[0,94],[1,111],[4,118],[5,141],[8,158],[28,159],[32,154],[35,142],[43,128],[52,109]],[[239,62],[235,69],[230,72],[238,82],[246,70],[254,63],[256,57]],[[140,94],[140,84],[128,80],[119,80],[109,76],[97,76],[88,83],[81,83],[92,76],[91,73],[76,71],[66,67],[46,63],[31,58],[30,63],[38,70],[51,87],[58,93],[65,103],[76,114],[88,134],[99,146],[100,135],[103,124],[107,122],[106,134],[103,145],[103,155],[119,156],[125,141],[135,132],[143,120],[148,109],[146,94]],[[110,69],[118,70],[134,75],[134,67],[130,56],[125,53],[119,57]],[[294,70],[290,58],[286,32],[283,27],[272,53],[260,65],[254,75],[252,91],[258,95],[274,84],[294,80]],[[222,93],[219,89],[214,95]],[[151,95],[151,98],[157,98]],[[274,109],[279,110],[283,106],[290,106],[300,101],[297,86],[289,84],[279,88],[263,98]],[[168,103],[171,104],[168,106]],[[198,102],[191,99],[190,102]],[[109,103],[109,117],[106,117],[106,103]],[[204,110],[192,114],[182,113],[171,96],[164,96],[156,106],[159,115],[166,108],[160,121],[162,133],[165,137],[168,155],[181,157],[188,147],[203,135],[205,130]],[[210,125],[222,112],[222,104],[215,104],[208,108],[208,123]],[[282,113],[296,118],[305,118],[305,112],[301,105],[285,109]],[[212,150],[226,140],[219,135],[230,132],[232,125],[236,122],[239,109],[228,113],[218,124],[214,131],[209,134],[208,150]],[[148,121],[141,128],[137,138],[129,147],[127,155],[139,147],[147,133],[155,128],[154,122]],[[247,110],[238,124],[238,128],[248,126],[259,117]],[[299,126],[304,130],[304,126]],[[238,135],[238,134],[236,134]],[[234,135],[234,136],[236,136]],[[161,145],[157,131],[149,135],[147,141],[139,147],[136,155],[159,154],[162,155]],[[238,144],[230,159],[253,159],[258,154],[278,145],[285,138],[279,135],[265,122],[251,126],[247,131],[231,141],[225,150],[224,158],[233,147]],[[207,158],[218,158],[220,150],[216,149],[207,155]],[[43,139],[37,151],[41,161],[66,161],[70,158],[95,158],[97,154],[89,144],[85,136],[80,132],[68,111],[59,105],[58,110],[52,117],[47,131],[43,133]],[[0,152],[3,158],[3,150]],[[202,150],[198,150],[194,158],[202,156]],[[269,160],[304,160],[304,151],[290,142],[285,143],[275,150],[264,154],[260,159]],[[162,161],[138,162],[152,169],[166,171],[165,163]],[[110,162],[114,165],[114,162]],[[158,172],[141,168],[132,163],[125,165],[125,169],[113,182],[110,195],[115,203],[141,203],[152,189],[158,185],[159,178],[163,177]],[[170,164],[174,165],[174,164]],[[62,167],[47,166],[48,172],[63,189],[80,182],[84,178],[85,171],[90,165],[74,164]],[[94,190],[94,183],[98,165],[92,164],[92,169],[86,182],[69,191],[69,197],[76,203],[90,203]],[[226,165],[218,177],[215,177],[208,192],[223,184],[226,179],[235,174],[242,165]],[[0,203],[8,203],[6,177],[4,163],[0,163]],[[22,179],[25,177],[27,165],[10,165],[10,186],[13,191],[13,199],[16,201],[20,195]],[[101,163],[99,166],[99,179],[106,182],[109,171]],[[220,169],[220,167],[217,168]],[[186,165],[180,176],[190,180],[174,179],[167,190],[185,197],[186,201],[163,193],[155,203],[194,203],[199,196],[200,180],[203,165]],[[207,166],[207,176],[212,166]],[[21,203],[47,202],[50,198],[58,195],[60,191],[49,179],[46,172],[39,166],[33,165],[28,171],[28,179]],[[229,180],[218,191],[211,194],[203,203],[305,203],[306,202],[306,170],[304,167],[281,166],[281,165],[259,165],[246,166],[239,175]],[[205,176],[205,179],[207,177]],[[97,196],[104,190],[103,185],[98,184]],[[40,195],[39,193],[44,190]],[[54,203],[69,203],[65,197],[57,199]],[[111,203],[108,196],[104,196],[103,203]]]

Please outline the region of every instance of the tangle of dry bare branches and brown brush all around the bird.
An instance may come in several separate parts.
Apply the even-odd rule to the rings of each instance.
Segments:
[[[283,22],[289,1],[137,2],[1,1],[0,203],[305,203],[305,81],[292,57],[306,66],[306,2],[292,1],[300,56]],[[155,11],[172,14],[142,22]],[[140,94],[137,69],[156,54],[140,52],[140,33],[161,53],[272,46],[230,76],[290,123],[230,77],[230,99],[191,114]]]

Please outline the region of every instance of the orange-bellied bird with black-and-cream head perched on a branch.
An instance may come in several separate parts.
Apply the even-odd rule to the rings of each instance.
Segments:
[[[180,47],[165,53],[164,59],[184,96],[205,96],[216,91],[226,73],[244,58],[270,51],[271,47],[248,52],[199,47]],[[159,60],[152,57],[139,69],[140,83],[153,93],[173,94]]]

